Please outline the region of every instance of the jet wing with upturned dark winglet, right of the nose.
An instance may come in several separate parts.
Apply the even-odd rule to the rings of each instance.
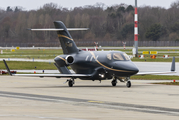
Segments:
[[[173,57],[170,71],[138,72],[136,75],[156,75],[156,74],[170,74],[170,73],[176,73],[176,71],[175,71],[175,57]]]

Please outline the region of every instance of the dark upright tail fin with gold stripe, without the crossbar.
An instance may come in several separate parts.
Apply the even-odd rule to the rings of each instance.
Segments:
[[[54,25],[57,29],[64,29],[62,31],[57,31],[58,38],[60,40],[61,47],[63,49],[64,54],[72,54],[72,53],[78,53],[78,48],[73,41],[73,38],[71,37],[70,33],[68,32],[67,28],[61,21],[55,21]]]

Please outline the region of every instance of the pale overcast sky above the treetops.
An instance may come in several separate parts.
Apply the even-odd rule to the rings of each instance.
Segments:
[[[170,4],[178,0],[138,0],[138,6],[160,6],[169,8]],[[1,0],[0,8],[6,9],[7,6],[21,6],[24,10],[38,9],[46,3],[57,3],[59,6],[65,8],[74,8],[85,5],[94,5],[98,3],[104,3],[107,6],[114,4],[125,3],[128,5],[135,5],[135,0]]]

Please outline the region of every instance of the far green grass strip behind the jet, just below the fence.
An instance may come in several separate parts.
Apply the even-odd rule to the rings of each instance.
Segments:
[[[120,50],[117,50],[120,51]],[[132,50],[122,50],[124,52],[129,52],[128,55],[132,54]],[[142,51],[159,51],[156,59],[151,59],[150,54],[145,55],[144,59],[133,58],[132,61],[139,62],[171,62],[172,56],[176,56],[176,62],[179,62],[178,53],[168,53],[168,52],[177,52],[178,50],[139,50]],[[160,51],[166,51],[167,53],[160,53]],[[54,59],[57,55],[63,54],[61,49],[32,49],[32,50],[15,50],[15,52],[11,52],[11,50],[3,50],[3,54],[0,55],[0,58],[28,58],[28,59]],[[163,55],[169,55],[170,58],[163,59]]]

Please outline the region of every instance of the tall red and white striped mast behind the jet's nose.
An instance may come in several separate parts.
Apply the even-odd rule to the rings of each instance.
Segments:
[[[138,14],[137,14],[137,0],[135,0],[135,14],[134,14],[134,46],[136,50],[135,57],[138,55]]]

